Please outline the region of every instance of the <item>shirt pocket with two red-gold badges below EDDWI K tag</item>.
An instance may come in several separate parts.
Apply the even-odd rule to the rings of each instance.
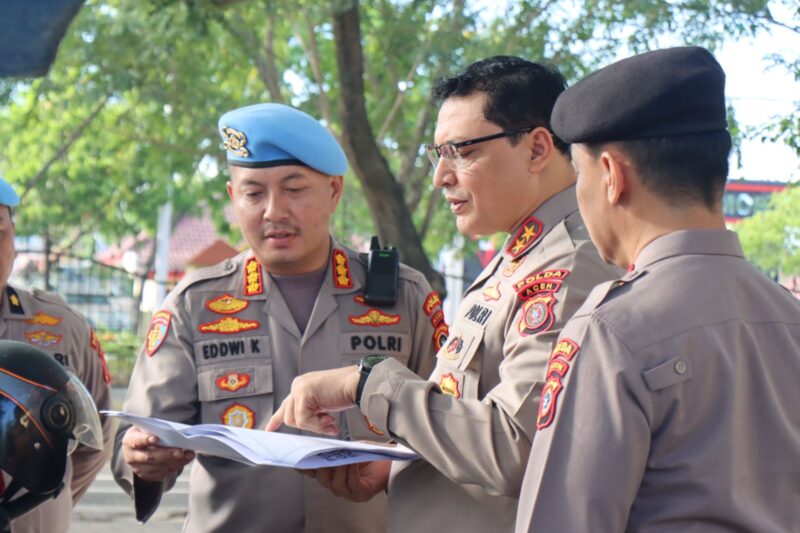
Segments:
[[[201,420],[253,429],[274,410],[271,360],[201,367],[197,372]]]

